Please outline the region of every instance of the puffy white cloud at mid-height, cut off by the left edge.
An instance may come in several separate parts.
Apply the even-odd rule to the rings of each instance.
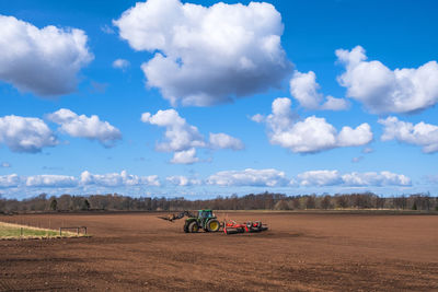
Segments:
[[[0,117],[0,143],[13,152],[36,153],[58,141],[42,119],[12,115]]]

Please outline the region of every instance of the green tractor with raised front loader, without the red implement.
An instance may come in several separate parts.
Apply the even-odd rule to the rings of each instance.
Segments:
[[[180,214],[172,214],[159,218],[173,222],[174,220],[182,219],[184,217],[187,217],[184,223],[185,233],[196,233],[199,230],[204,230],[206,232],[218,232],[221,227],[219,220],[210,209],[199,210],[197,215],[191,213],[189,211],[184,211]]]

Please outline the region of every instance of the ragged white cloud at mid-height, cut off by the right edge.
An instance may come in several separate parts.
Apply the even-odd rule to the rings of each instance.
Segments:
[[[379,119],[383,125],[382,141],[397,140],[423,147],[424,153],[438,152],[438,126],[425,124],[423,121],[413,125],[412,122],[399,120],[396,117]]]

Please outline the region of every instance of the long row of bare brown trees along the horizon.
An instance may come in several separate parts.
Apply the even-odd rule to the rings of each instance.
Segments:
[[[250,194],[245,196],[219,196],[214,199],[188,200],[183,197],[139,197],[118,194],[59,197],[39,196],[18,200],[0,197],[0,213],[16,212],[68,212],[68,211],[182,211],[214,210],[339,210],[339,209],[391,209],[438,211],[438,197],[415,194],[397,197],[380,197],[372,192],[336,195]]]

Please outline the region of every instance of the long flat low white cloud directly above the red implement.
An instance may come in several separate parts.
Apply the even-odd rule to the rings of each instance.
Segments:
[[[210,175],[207,184],[218,186],[257,186],[278,187],[286,186],[289,179],[284,172],[277,170],[253,170],[224,171]]]

